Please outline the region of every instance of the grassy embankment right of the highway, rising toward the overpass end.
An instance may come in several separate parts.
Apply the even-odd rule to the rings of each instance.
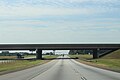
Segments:
[[[120,50],[99,59],[92,59],[92,55],[70,55],[70,57],[78,57],[77,61],[84,64],[120,72]]]

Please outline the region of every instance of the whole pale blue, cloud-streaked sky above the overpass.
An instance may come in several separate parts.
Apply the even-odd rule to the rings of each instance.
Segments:
[[[0,44],[120,43],[120,0],[0,0]]]

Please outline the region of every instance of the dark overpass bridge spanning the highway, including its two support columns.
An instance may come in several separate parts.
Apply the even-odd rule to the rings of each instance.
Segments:
[[[120,44],[0,44],[0,50],[36,50],[37,59],[42,59],[42,50],[93,50],[93,58],[98,58],[98,50],[120,49]]]

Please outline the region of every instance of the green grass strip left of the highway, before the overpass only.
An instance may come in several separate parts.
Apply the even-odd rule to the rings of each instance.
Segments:
[[[0,73],[26,69],[47,62],[46,60],[15,60],[9,63],[0,63]]]

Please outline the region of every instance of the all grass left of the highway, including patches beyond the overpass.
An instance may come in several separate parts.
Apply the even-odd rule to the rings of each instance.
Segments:
[[[48,59],[56,58],[57,56],[44,56],[44,57],[47,60],[14,60],[10,62],[0,62],[0,74],[5,74],[5,73],[14,72],[14,71],[34,67],[37,65],[41,65],[46,62],[49,62],[50,60]],[[1,58],[4,57],[2,56]],[[7,58],[11,58],[11,57],[7,57]]]

